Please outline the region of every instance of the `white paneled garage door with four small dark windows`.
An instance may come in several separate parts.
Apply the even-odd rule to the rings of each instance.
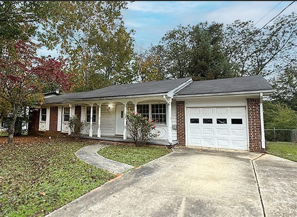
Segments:
[[[187,145],[247,150],[245,107],[187,108]]]

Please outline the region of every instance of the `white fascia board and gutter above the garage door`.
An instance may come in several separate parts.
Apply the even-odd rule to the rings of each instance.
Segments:
[[[265,96],[270,96],[273,90],[257,90],[257,91],[242,91],[228,93],[207,93],[207,94],[190,94],[190,95],[175,95],[175,99],[181,98],[197,98],[197,97],[215,97],[215,96],[242,96],[242,95],[258,95],[263,93]]]

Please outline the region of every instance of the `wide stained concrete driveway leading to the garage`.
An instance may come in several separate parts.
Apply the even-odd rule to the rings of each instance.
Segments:
[[[49,216],[297,216],[296,189],[292,161],[175,148]]]

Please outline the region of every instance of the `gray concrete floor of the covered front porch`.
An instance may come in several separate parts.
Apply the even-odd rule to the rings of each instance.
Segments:
[[[72,137],[72,135],[70,135]],[[134,142],[133,139],[127,138],[123,139],[123,136],[116,135],[116,136],[101,136],[101,138],[98,138],[97,135],[94,135],[92,137],[89,137],[88,134],[81,134],[80,138],[82,139],[97,139],[97,140],[106,140],[106,141],[119,141],[119,142]],[[177,140],[173,140],[172,144],[169,144],[168,140],[161,140],[161,139],[153,139],[151,141],[148,141],[147,144],[154,144],[154,145],[176,145]]]

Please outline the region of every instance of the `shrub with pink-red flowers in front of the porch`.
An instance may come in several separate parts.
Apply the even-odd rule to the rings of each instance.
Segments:
[[[137,111],[130,109],[128,109],[126,117],[128,120],[127,131],[137,146],[143,146],[147,141],[158,136],[154,130],[156,128],[154,120],[150,121]]]

